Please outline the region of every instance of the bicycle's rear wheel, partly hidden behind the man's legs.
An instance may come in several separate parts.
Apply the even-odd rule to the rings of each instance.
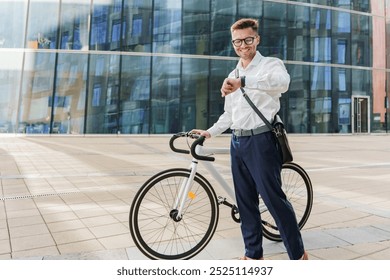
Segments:
[[[281,179],[282,189],[295,211],[299,228],[302,229],[313,206],[313,187],[310,178],[301,166],[289,162],[282,166]],[[261,198],[260,212],[264,237],[273,241],[282,241],[275,220]]]

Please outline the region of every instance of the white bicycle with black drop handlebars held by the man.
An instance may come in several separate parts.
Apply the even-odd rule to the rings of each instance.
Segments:
[[[186,137],[189,150],[175,146]],[[190,145],[188,139],[194,139]],[[181,132],[169,141],[172,151],[192,155],[188,169],[172,168],[148,179],[136,193],[129,214],[130,233],[138,249],[150,259],[190,259],[212,239],[218,224],[219,206],[231,208],[232,219],[239,223],[239,209],[226,197],[217,196],[210,182],[197,172],[202,163],[232,201],[233,188],[216,170],[213,155],[229,153],[228,148],[206,148],[203,136]],[[296,163],[282,166],[282,188],[293,205],[299,227],[309,218],[313,188],[308,174]],[[275,222],[259,197],[263,235],[281,241]]]

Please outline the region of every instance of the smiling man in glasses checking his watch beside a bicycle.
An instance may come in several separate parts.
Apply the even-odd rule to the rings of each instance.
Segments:
[[[222,84],[225,112],[208,130],[192,132],[206,138],[231,128],[232,174],[240,211],[245,244],[244,260],[263,259],[260,194],[275,219],[290,259],[308,259],[294,210],[281,188],[281,155],[276,139],[245,100],[240,87],[270,121],[280,109],[279,98],[288,90],[290,76],[283,62],[263,57],[256,49],[260,43],[258,21],[241,19],[231,27],[232,44],[240,60]]]

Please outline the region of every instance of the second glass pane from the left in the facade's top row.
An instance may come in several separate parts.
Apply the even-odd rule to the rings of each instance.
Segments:
[[[26,47],[31,49],[57,48],[59,2],[30,0],[29,3]]]

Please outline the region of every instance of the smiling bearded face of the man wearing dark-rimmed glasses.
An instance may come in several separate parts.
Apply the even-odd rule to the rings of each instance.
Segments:
[[[254,38],[253,40],[251,39]],[[246,39],[246,43],[243,41]],[[260,43],[259,35],[253,31],[252,28],[236,29],[232,32],[232,41],[236,41],[236,44],[241,43],[240,46],[236,46],[233,43],[236,54],[243,60],[252,60],[256,55],[256,48]],[[241,40],[241,42],[239,42]],[[252,42],[252,44],[250,44]]]

